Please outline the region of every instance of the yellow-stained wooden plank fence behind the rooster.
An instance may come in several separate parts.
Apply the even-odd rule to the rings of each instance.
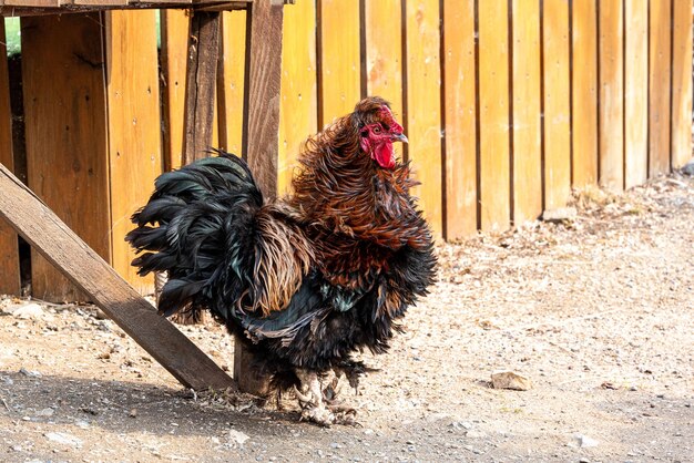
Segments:
[[[29,186],[143,292],[152,281],[134,275],[123,235],[154,177],[181,163],[187,21],[162,11],[160,70],[152,12],[22,19]],[[245,12],[224,13],[214,137],[236,153],[244,37]],[[692,0],[298,0],[285,8],[280,191],[306,136],[367,94],[404,122],[402,156],[440,236],[504,229],[572,187],[619,191],[691,158]],[[18,267],[0,224],[0,292],[19,290]],[[78,297],[38,255],[32,286]]]

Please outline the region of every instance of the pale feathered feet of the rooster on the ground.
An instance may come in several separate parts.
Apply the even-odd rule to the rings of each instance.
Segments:
[[[357,424],[356,410],[337,401],[341,387],[335,372],[330,371],[330,374],[322,379],[315,371],[297,369],[296,375],[302,382],[300,388],[294,388],[302,408],[302,420],[324,426]]]

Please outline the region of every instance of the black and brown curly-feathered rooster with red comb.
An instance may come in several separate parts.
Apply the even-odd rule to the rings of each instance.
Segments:
[[[253,353],[302,418],[348,423],[336,378],[356,387],[397,320],[433,281],[432,238],[389,104],[367,97],[310,137],[293,194],[265,200],[246,163],[224,152],[165,173],[132,217],[140,275],[165,271],[159,310],[208,310]],[[327,384],[326,384],[327,383]]]

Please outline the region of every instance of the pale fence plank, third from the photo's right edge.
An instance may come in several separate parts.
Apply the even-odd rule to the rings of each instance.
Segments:
[[[691,17],[691,14],[690,14]],[[624,0],[624,187],[649,173],[649,0]]]

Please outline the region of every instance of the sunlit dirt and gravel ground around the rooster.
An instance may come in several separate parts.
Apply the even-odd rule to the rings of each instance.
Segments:
[[[439,249],[360,426],[195,397],[92,307],[0,301],[0,460],[694,461],[694,179]],[[182,328],[232,368],[217,327]],[[492,389],[513,370],[528,391]]]

